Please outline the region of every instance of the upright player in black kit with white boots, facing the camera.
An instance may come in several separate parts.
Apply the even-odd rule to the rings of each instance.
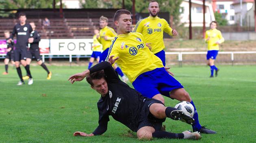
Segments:
[[[25,67],[27,73],[30,75],[28,79],[28,85],[33,84],[33,78],[30,74],[29,66],[26,64],[26,51],[28,47],[28,42],[31,40],[29,38],[30,33],[33,31],[32,27],[26,23],[26,15],[24,13],[19,14],[20,23],[16,24],[13,28],[13,32],[10,36],[10,39],[7,42],[11,42],[13,37],[17,36],[17,42],[15,44],[14,50],[14,61],[17,69],[17,73],[20,77],[20,81],[17,85],[25,84],[22,79],[22,71],[20,69],[20,63]]]

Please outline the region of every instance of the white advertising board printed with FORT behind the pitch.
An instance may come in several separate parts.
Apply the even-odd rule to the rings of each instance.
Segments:
[[[51,39],[50,53],[53,55],[91,55],[93,39]]]

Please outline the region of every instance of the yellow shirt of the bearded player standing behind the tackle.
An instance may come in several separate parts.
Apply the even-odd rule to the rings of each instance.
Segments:
[[[151,51],[156,54],[165,48],[163,32],[172,36],[172,29],[165,19],[149,16],[141,19],[133,32],[141,33],[145,38],[145,43],[151,43]]]

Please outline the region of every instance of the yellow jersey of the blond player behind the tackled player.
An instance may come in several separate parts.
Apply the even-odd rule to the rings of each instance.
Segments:
[[[107,40],[104,39],[104,36],[107,36]],[[106,48],[109,48],[111,43],[111,40],[113,40],[117,36],[117,33],[115,33],[115,30],[111,27],[104,27],[100,29],[100,37],[98,38],[98,41],[102,44],[103,50],[106,50]]]

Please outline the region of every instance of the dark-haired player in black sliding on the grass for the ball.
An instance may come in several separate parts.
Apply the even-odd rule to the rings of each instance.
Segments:
[[[113,56],[109,60],[113,60],[112,58]],[[161,131],[162,123],[166,117],[182,120],[188,124],[193,124],[194,119],[185,115],[181,110],[165,107],[159,100],[143,97],[141,93],[122,82],[112,65],[107,61],[98,63],[82,73],[75,74],[69,80],[73,84],[85,77],[87,82],[91,84],[91,88],[101,95],[98,101],[99,126],[91,134],[75,132],[74,136],[102,135],[107,130],[109,116],[112,116],[130,130],[137,132],[139,139],[152,139],[153,137],[201,139],[198,132],[171,133]]]

